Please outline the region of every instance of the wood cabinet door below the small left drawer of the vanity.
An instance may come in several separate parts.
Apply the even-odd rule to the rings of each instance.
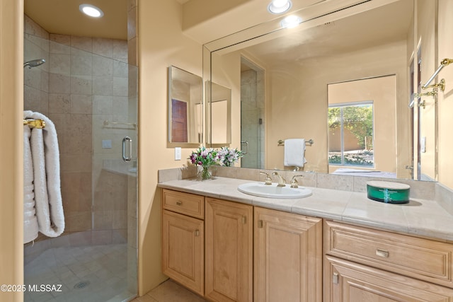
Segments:
[[[204,294],[204,222],[164,210],[162,272],[197,294]]]

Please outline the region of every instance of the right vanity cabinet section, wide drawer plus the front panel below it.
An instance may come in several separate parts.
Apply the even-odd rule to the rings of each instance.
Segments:
[[[449,243],[325,221],[324,301],[453,301]]]

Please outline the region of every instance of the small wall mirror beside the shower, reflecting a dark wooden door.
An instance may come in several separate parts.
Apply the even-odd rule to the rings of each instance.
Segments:
[[[168,67],[168,142],[202,142],[202,78]]]

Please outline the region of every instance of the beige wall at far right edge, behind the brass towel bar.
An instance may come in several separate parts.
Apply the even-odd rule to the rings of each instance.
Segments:
[[[453,1],[439,0],[439,60],[453,59]],[[439,181],[453,188],[453,64],[440,71],[439,79],[445,79],[445,91],[439,93]]]

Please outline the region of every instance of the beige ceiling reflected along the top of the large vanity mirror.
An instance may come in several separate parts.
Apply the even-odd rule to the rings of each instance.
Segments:
[[[396,1],[314,28],[292,28],[286,35],[248,47],[247,51],[274,64],[353,52],[406,39],[412,12],[412,0]]]

